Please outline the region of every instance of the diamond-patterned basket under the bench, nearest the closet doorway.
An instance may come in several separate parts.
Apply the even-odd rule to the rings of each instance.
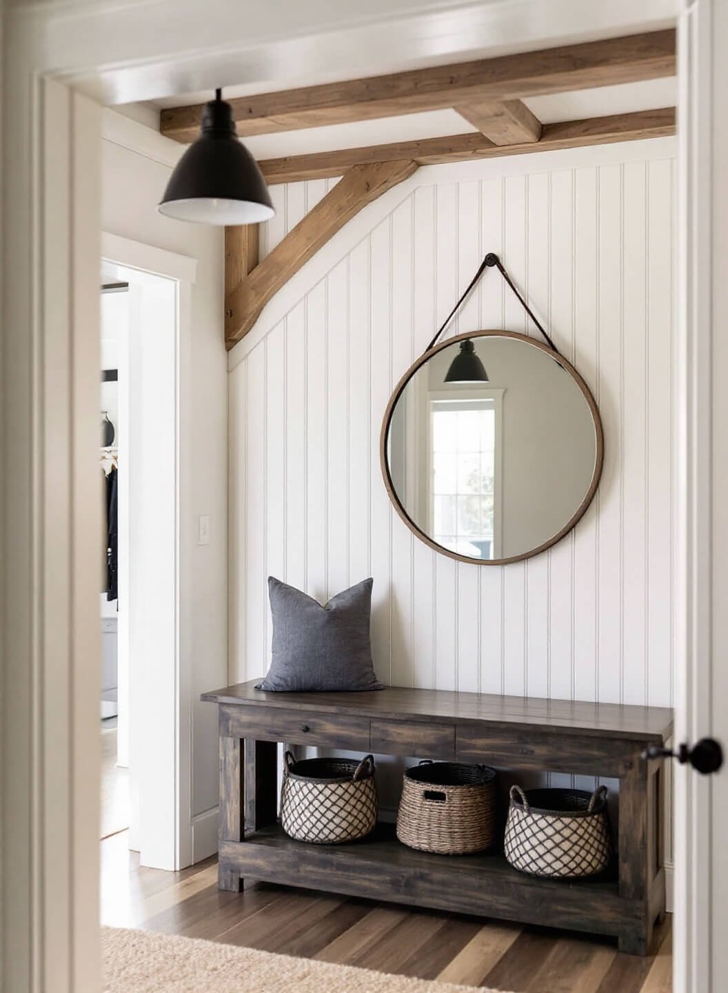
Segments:
[[[376,825],[374,759],[304,759],[286,752],[281,826],[297,841],[338,845],[356,841]]]

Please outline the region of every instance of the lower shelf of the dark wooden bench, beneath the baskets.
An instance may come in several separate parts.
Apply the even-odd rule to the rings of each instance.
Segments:
[[[640,950],[637,935],[644,932],[644,902],[620,897],[610,874],[537,879],[516,872],[498,851],[451,856],[415,851],[397,841],[387,824],[346,845],[294,841],[274,824],[242,842],[221,841],[219,862],[221,875],[614,935],[628,951]]]

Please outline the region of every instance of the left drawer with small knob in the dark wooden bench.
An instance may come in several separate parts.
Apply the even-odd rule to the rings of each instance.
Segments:
[[[282,707],[220,707],[219,732],[229,738],[291,745],[369,749],[369,719]]]

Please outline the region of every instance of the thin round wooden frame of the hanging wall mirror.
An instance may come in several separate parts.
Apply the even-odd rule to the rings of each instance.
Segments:
[[[415,524],[415,522],[408,515],[407,511],[404,509],[399,497],[397,497],[396,491],[394,490],[394,484],[392,483],[391,474],[389,472],[389,464],[386,457],[386,443],[389,434],[389,426],[391,424],[392,415],[394,413],[394,408],[396,406],[397,400],[402,395],[404,387],[407,385],[409,380],[412,378],[414,373],[421,368],[425,362],[429,361],[433,355],[437,355],[438,352],[442,352],[443,349],[450,348],[458,342],[464,342],[467,339],[476,338],[513,338],[517,341],[525,342],[526,345],[530,345],[534,349],[540,349],[541,352],[545,352],[546,355],[551,355],[554,361],[558,362],[559,365],[563,366],[565,371],[567,371],[574,382],[577,384],[584,399],[587,402],[589,410],[592,415],[592,420],[594,422],[594,432],[596,435],[596,456],[594,460],[594,473],[592,475],[591,483],[589,484],[589,489],[586,492],[583,500],[576,508],[575,512],[571,515],[569,520],[564,524],[564,526],[556,532],[548,541],[544,541],[542,544],[535,548],[530,549],[527,552],[522,552],[520,555],[510,555],[507,558],[499,559],[479,559],[471,558],[469,555],[460,555],[458,552],[451,551],[449,548],[445,548],[443,545],[438,545],[436,541],[433,541],[429,535],[425,534],[421,528]],[[448,558],[455,559],[457,562],[470,562],[474,565],[508,565],[510,562],[521,562],[523,559],[532,558],[534,555],[539,555],[541,552],[555,545],[556,542],[560,541],[561,538],[565,537],[569,531],[571,531],[578,521],[583,517],[587,510],[587,507],[594,498],[597,492],[597,487],[599,486],[599,481],[602,476],[602,468],[604,466],[604,429],[602,427],[602,418],[599,415],[599,408],[597,407],[596,401],[592,396],[591,390],[587,386],[586,382],[582,376],[577,372],[574,366],[564,358],[563,355],[559,355],[558,352],[554,352],[547,345],[537,342],[535,339],[531,338],[529,335],[521,335],[515,331],[471,331],[464,335],[456,335],[453,338],[448,338],[444,342],[440,342],[434,348],[420,355],[416,361],[414,361],[404,375],[401,377],[399,382],[394,387],[394,391],[389,397],[389,402],[386,405],[384,411],[384,417],[381,422],[381,432],[379,435],[379,462],[381,465],[381,475],[384,480],[384,487],[392,501],[394,509],[397,511],[399,516],[402,518],[407,527],[415,534],[421,541],[424,541],[426,545],[429,545],[436,552],[440,552],[442,555],[447,555]]]

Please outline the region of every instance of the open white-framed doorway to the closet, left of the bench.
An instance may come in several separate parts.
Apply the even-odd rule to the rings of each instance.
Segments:
[[[100,834],[143,866],[178,869],[190,822],[180,350],[195,263],[112,235],[103,250]]]

